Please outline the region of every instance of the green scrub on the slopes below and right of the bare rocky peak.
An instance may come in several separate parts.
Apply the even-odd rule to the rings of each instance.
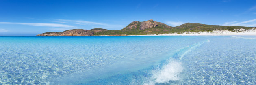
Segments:
[[[169,33],[183,33],[183,32],[212,32],[213,30],[230,30],[234,32],[234,29],[251,29],[252,27],[243,26],[218,26],[218,25],[205,25],[200,23],[185,23],[180,26],[171,27],[172,29],[164,28],[163,26],[156,26],[153,28],[148,28],[145,30],[139,30],[139,24],[137,24],[136,29],[126,29],[127,27],[133,25],[129,24],[124,29],[121,30],[107,30],[95,33],[93,35],[147,35],[147,34],[169,34]]]

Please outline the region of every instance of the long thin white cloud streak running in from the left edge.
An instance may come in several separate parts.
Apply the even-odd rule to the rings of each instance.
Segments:
[[[16,23],[16,22],[0,22],[0,24],[20,24],[29,26],[48,26],[48,27],[64,27],[64,28],[76,28],[75,26],[69,26],[64,24],[56,23]]]

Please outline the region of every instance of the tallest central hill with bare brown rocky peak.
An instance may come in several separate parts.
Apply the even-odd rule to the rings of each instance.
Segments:
[[[148,21],[133,21],[121,30],[108,30],[98,32],[93,35],[145,35],[145,34],[162,34],[171,32],[173,27],[152,19]]]

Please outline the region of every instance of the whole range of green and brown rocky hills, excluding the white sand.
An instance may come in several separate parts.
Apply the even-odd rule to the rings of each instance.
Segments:
[[[169,33],[184,33],[184,32],[211,32],[214,30],[229,30],[237,31],[237,29],[252,29],[252,27],[243,26],[218,26],[206,25],[200,23],[184,23],[180,26],[171,27],[161,22],[156,22],[152,19],[148,21],[133,21],[128,26],[121,30],[106,30],[95,28],[91,30],[74,29],[64,32],[46,32],[37,36],[125,36],[125,35],[146,35],[146,34],[169,34]]]

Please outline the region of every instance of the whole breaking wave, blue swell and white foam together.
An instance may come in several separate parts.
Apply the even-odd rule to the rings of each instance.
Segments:
[[[204,40],[202,42],[198,42],[193,45],[172,51],[171,53],[167,54],[167,56],[169,56],[167,60],[163,60],[158,65],[151,66],[147,69],[128,72],[126,74],[117,74],[111,77],[96,79],[78,84],[154,85],[156,83],[169,83],[169,81],[178,81],[180,79],[179,74],[184,69],[180,60],[182,60],[182,58],[184,58],[187,53],[191,52],[197,47],[200,47],[200,45],[205,42],[210,42],[210,40]]]

